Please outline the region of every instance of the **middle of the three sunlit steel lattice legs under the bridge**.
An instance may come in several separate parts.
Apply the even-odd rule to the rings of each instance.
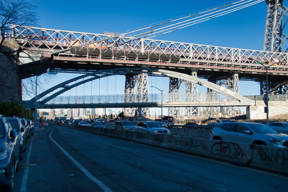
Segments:
[[[197,70],[192,70],[193,77],[197,77]],[[198,84],[191,81],[184,81],[186,85],[186,102],[198,101]],[[199,115],[199,107],[185,107],[185,116]]]

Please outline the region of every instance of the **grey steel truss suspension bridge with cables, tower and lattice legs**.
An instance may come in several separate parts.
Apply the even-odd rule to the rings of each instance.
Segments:
[[[268,90],[272,95],[286,94],[288,89],[288,54],[282,47],[288,47],[288,34],[283,33],[287,24],[284,16],[288,11],[283,0],[267,0],[268,11],[266,20],[264,51],[235,49],[173,41],[150,39],[160,34],[196,24],[222,14],[227,14],[244,7],[254,5],[263,0],[244,0],[216,7],[215,9],[190,14],[184,17],[167,20],[167,22],[145,26],[123,34],[84,33],[67,30],[36,28],[31,26],[14,26],[10,35],[16,38],[19,45],[27,46],[25,39],[34,38],[30,50],[41,53],[40,59],[53,61],[43,66],[43,72],[90,73],[109,69],[109,73],[119,73],[121,68],[162,69],[193,77],[206,78],[216,85],[224,85],[226,89],[239,94],[238,81],[253,80],[259,82],[261,95],[266,92],[265,68],[261,63],[275,63],[268,70]],[[178,28],[177,28],[178,27]],[[136,34],[139,32],[139,34]],[[252,60],[255,59],[257,62]],[[43,63],[43,62],[42,62]],[[47,62],[48,63],[48,62]],[[29,65],[29,64],[27,64]],[[39,66],[38,66],[39,67]],[[20,66],[21,69],[21,66]],[[37,67],[35,69],[38,69]],[[112,69],[112,70],[111,70]],[[31,73],[32,71],[32,73]],[[35,70],[24,71],[23,78],[35,75]],[[125,72],[125,69],[122,70]],[[151,73],[125,74],[125,95],[148,95],[148,75]],[[161,74],[160,76],[162,76]],[[170,77],[168,102],[177,102],[179,86],[185,83],[185,102],[198,101],[198,84]],[[207,88],[209,101],[217,101],[217,92]],[[240,106],[240,105],[239,105]],[[140,111],[139,111],[140,110]],[[232,114],[239,113],[239,107],[230,107]],[[126,115],[148,114],[148,108],[126,108]],[[217,107],[207,107],[207,114],[217,116]],[[179,110],[170,107],[168,115],[179,116]],[[198,107],[186,107],[185,115],[199,115]]]

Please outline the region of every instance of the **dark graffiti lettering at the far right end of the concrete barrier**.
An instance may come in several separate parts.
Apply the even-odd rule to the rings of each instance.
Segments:
[[[288,153],[286,150],[265,148],[266,151],[262,147],[260,149],[261,161],[268,161],[265,165],[284,166],[288,163]]]

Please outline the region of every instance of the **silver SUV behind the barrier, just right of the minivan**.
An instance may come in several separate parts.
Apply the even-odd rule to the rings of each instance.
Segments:
[[[170,135],[170,130],[156,121],[140,121],[135,126],[135,131]]]

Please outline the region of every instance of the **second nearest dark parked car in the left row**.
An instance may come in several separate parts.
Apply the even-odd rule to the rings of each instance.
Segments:
[[[7,117],[6,118],[13,126],[14,130],[16,130],[16,134],[20,137],[20,150],[19,150],[19,159],[22,161],[23,159],[23,152],[26,151],[26,141],[27,141],[27,134],[24,125],[18,118]]]

